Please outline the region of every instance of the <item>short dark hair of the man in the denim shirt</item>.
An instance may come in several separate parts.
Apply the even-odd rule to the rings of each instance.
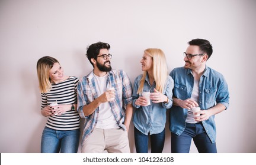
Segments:
[[[202,54],[206,53],[208,55],[207,60],[211,57],[213,49],[212,49],[212,44],[210,44],[209,41],[206,39],[192,39],[191,41],[188,42],[189,45],[197,45],[199,46],[199,49]]]

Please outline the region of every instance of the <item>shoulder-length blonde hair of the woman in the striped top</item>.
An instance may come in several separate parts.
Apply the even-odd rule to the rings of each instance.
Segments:
[[[37,77],[41,93],[47,93],[50,91],[50,88],[52,88],[49,71],[56,62],[59,63],[59,61],[50,56],[44,56],[37,61]]]

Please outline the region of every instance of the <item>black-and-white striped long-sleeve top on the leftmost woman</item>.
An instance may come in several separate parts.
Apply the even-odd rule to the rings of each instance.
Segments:
[[[76,104],[77,77],[69,77],[67,80],[58,84],[52,84],[48,93],[41,93],[41,108],[43,109],[51,103],[57,104]],[[68,110],[57,116],[49,116],[46,127],[54,130],[76,130],[80,128],[80,117],[77,111]]]

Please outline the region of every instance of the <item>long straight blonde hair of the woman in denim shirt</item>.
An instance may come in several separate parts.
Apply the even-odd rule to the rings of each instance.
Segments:
[[[150,57],[153,58],[153,78],[156,82],[156,90],[158,90],[160,93],[163,93],[168,76],[168,68],[165,54],[161,49],[157,48],[145,49],[144,53],[148,54]],[[146,75],[147,71],[143,71],[137,94],[142,93],[143,91]]]

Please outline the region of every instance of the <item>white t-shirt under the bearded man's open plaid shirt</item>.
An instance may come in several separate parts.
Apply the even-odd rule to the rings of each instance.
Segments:
[[[107,76],[108,74],[104,75],[103,77],[98,77],[94,74],[98,97],[100,97],[100,95],[106,91]],[[116,118],[114,118],[114,115],[111,111],[110,103],[106,102],[100,104],[98,121],[95,127],[101,129],[119,128],[116,122]]]

